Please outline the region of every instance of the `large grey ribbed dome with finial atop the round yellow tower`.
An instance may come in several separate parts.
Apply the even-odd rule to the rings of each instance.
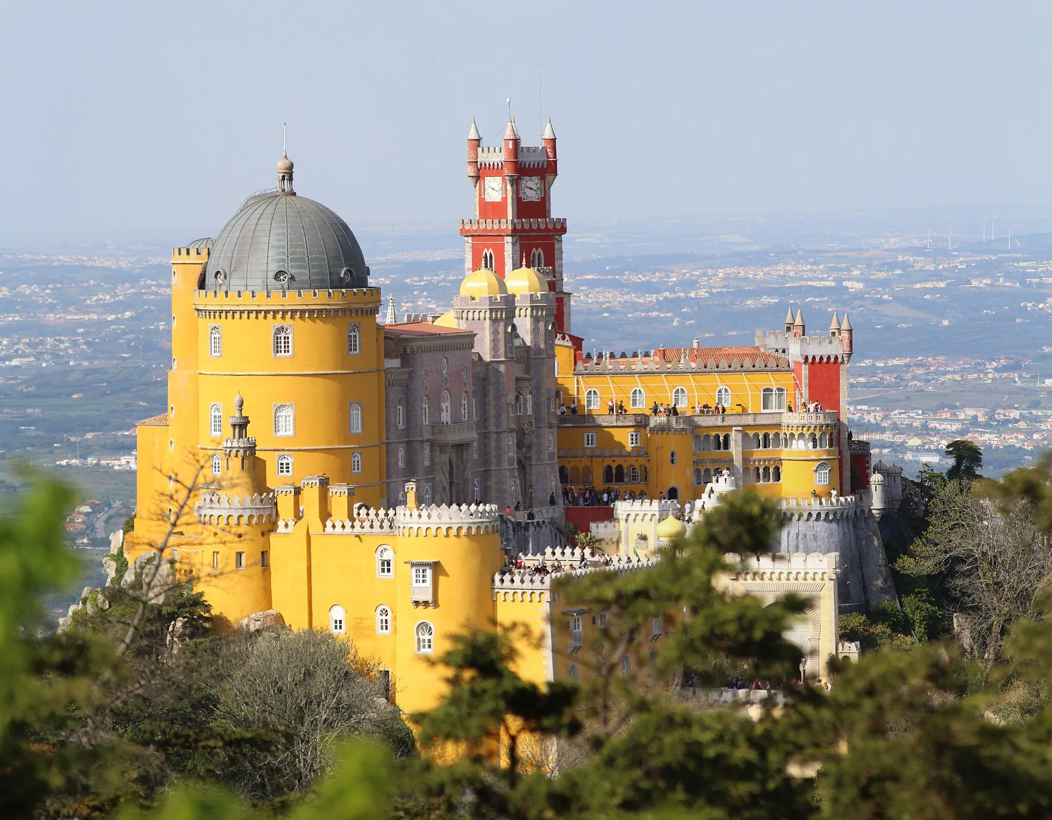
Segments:
[[[339,290],[367,287],[368,275],[346,222],[319,202],[279,189],[249,197],[226,223],[199,287]]]

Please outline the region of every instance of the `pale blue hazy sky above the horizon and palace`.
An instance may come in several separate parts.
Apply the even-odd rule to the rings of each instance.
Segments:
[[[448,9],[448,11],[440,11]],[[215,235],[275,182],[470,216],[465,137],[559,135],[558,216],[1052,202],[1052,4],[0,3],[0,229]],[[187,237],[188,239],[189,237]]]

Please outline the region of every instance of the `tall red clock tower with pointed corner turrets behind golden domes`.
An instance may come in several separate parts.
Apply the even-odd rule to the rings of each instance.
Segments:
[[[555,327],[570,332],[570,293],[563,290],[563,234],[566,220],[551,216],[551,186],[559,176],[551,120],[543,145],[523,145],[514,119],[504,141],[483,147],[471,121],[467,135],[467,177],[474,186],[474,219],[461,220],[464,273],[488,268],[504,279],[530,267],[555,295]]]

